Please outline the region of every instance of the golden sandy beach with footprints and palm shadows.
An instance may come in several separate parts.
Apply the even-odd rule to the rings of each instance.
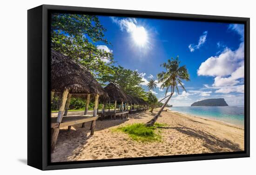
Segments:
[[[121,125],[146,123],[153,115],[143,112],[129,115],[128,119],[97,120],[94,136],[90,136],[90,123],[85,128],[74,125],[71,131],[61,128],[52,162],[244,150],[242,128],[170,111],[162,112],[157,120],[168,124],[159,128],[162,142],[141,143],[125,133],[112,131]]]

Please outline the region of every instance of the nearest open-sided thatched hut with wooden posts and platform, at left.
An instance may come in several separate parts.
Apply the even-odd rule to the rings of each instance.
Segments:
[[[54,93],[61,96],[58,116],[51,118],[51,152],[54,152],[61,127],[68,126],[68,130],[70,130],[71,125],[83,123],[82,127],[84,127],[85,122],[91,122],[91,135],[94,134],[95,121],[98,118],[99,96],[107,98],[108,94],[105,93],[88,69],[81,64],[55,50],[51,50],[51,58],[51,100]],[[66,116],[72,94],[87,95],[84,115]],[[94,113],[88,115],[88,103],[91,94],[95,97]]]

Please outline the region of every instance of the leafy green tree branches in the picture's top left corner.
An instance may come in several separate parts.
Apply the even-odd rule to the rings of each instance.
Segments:
[[[95,15],[53,13],[51,47],[86,66],[101,76],[111,73],[113,54],[98,50],[95,42],[109,44],[104,38],[106,29]]]

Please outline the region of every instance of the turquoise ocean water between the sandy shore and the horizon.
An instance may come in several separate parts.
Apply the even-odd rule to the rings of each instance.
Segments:
[[[172,111],[244,126],[244,106],[170,107]]]

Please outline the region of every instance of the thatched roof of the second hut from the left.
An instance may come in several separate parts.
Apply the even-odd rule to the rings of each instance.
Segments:
[[[117,87],[113,83],[109,83],[104,90],[108,93],[109,101],[117,101],[117,102],[128,102],[128,96],[122,91],[121,88]]]

